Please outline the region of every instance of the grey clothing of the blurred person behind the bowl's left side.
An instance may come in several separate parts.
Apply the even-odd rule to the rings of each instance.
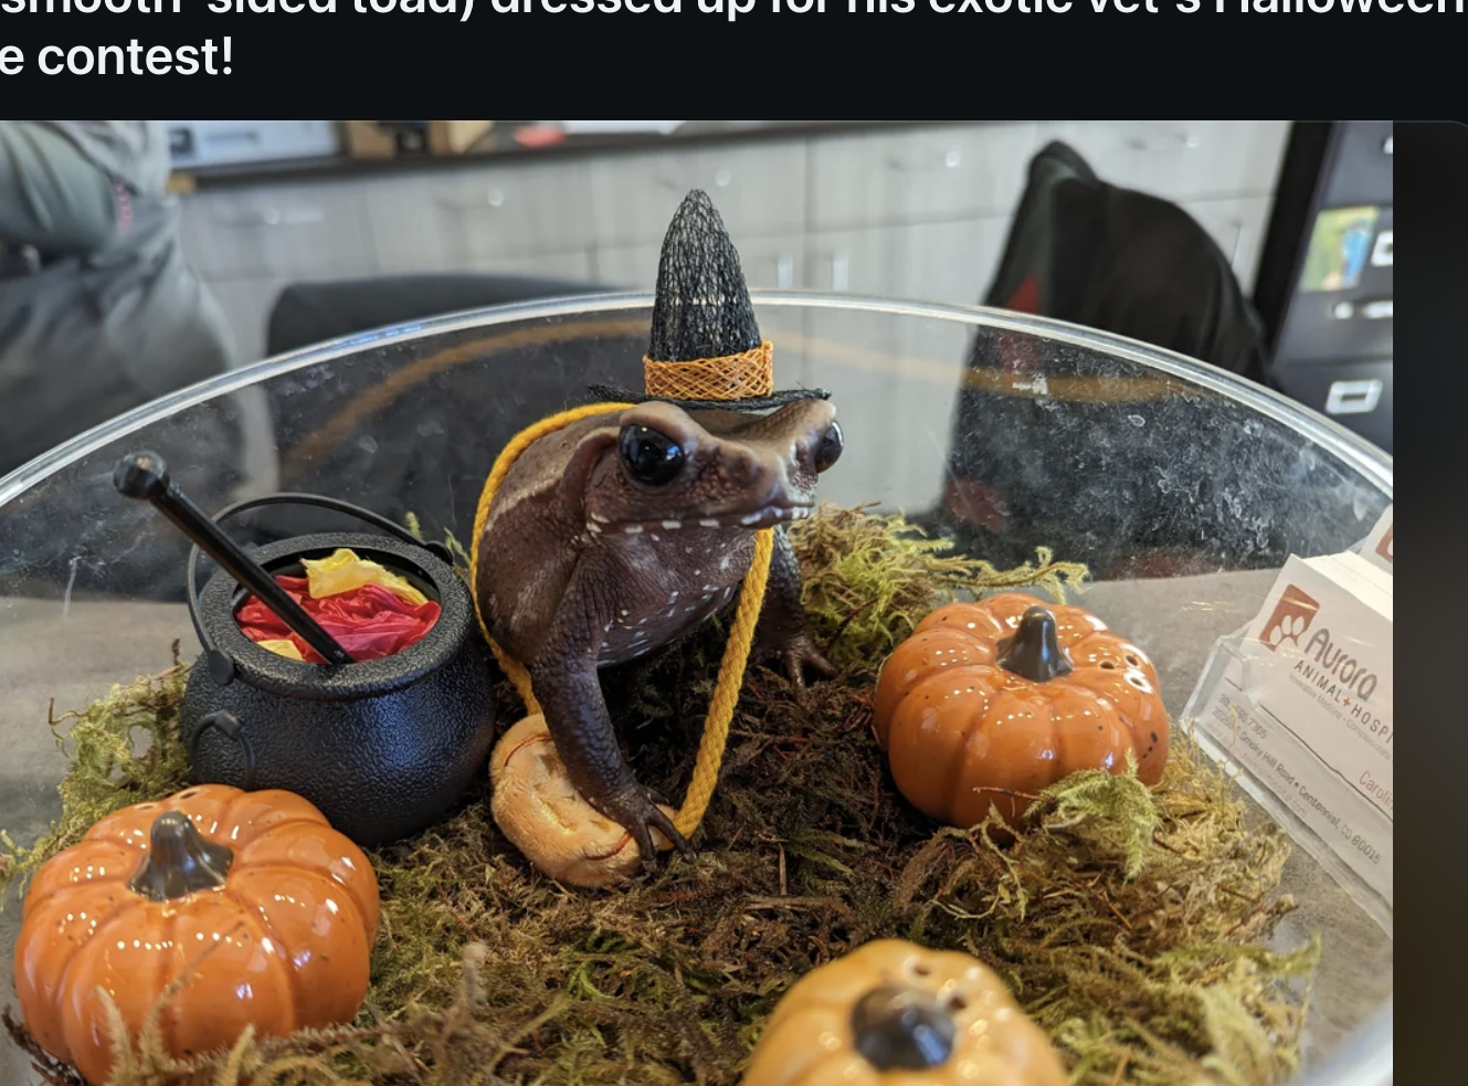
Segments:
[[[157,122],[0,122],[0,480],[230,368],[223,313],[179,249],[169,166]],[[273,452],[263,405],[250,389],[191,407],[0,505],[0,597],[178,599],[186,544],[113,490],[112,465],[153,448],[217,509],[264,481],[250,470],[252,445]]]

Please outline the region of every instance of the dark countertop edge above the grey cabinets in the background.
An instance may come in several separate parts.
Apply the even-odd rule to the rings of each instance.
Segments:
[[[609,151],[644,151],[749,141],[799,139],[812,135],[847,135],[891,128],[972,125],[960,120],[690,120],[669,135],[658,132],[608,132],[568,135],[556,144],[526,147],[515,135],[533,126],[527,120],[498,120],[482,144],[464,154],[399,154],[392,158],[352,158],[339,156],[289,158],[280,161],[239,163],[229,166],[181,166],[176,179],[185,188],[211,189],[252,185],[263,181],[308,181],[363,178],[414,170],[452,170],[486,163],[540,161]]]

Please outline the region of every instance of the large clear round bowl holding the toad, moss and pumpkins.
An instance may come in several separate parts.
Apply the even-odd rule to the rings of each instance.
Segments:
[[[164,455],[198,505],[332,495],[468,542],[484,474],[530,423],[590,383],[642,387],[650,296],[512,305],[267,360],[113,420],[0,480],[0,826],[31,839],[60,810],[48,706],[154,674],[179,638],[186,547],[112,470]],[[979,308],[757,294],[777,385],[831,389],[846,431],[822,499],[875,502],[997,565],[1036,546],[1091,565],[1086,605],[1152,656],[1169,710],[1214,641],[1258,609],[1290,553],[1345,550],[1392,500],[1392,461],[1333,423],[1149,346]],[[236,537],[319,530],[272,511]],[[333,521],[330,528],[341,527]],[[1279,938],[1324,930],[1301,1082],[1392,1079],[1392,941],[1296,850],[1302,903]],[[19,908],[0,913],[13,1002]],[[28,1083],[0,1042],[0,1082]]]

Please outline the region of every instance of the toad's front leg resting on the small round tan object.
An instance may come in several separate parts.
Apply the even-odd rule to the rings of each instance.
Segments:
[[[597,603],[602,593],[587,587],[580,574],[571,578],[546,640],[530,663],[530,681],[571,784],[592,807],[633,835],[643,867],[650,870],[658,864],[650,828],[662,831],[684,856],[693,850],[658,809],[658,797],[633,776],[617,746],[596,674],[608,619]]]

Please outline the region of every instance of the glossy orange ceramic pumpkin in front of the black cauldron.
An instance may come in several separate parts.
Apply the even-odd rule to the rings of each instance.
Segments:
[[[188,788],[119,810],[51,857],[25,897],[15,954],[37,1042],[106,1079],[107,992],[137,1035],[164,989],[175,1057],[348,1021],[377,932],[367,857],[299,795]]]

